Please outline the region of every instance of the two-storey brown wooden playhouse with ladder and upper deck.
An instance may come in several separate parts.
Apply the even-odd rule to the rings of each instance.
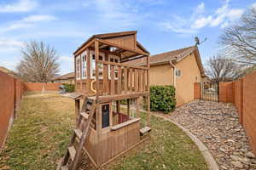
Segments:
[[[148,138],[148,56],[137,31],[94,35],[74,52],[77,125],[59,168],[77,169],[83,151],[100,168]],[[126,63],[143,57],[147,66]],[[148,101],[144,124],[140,98]]]

